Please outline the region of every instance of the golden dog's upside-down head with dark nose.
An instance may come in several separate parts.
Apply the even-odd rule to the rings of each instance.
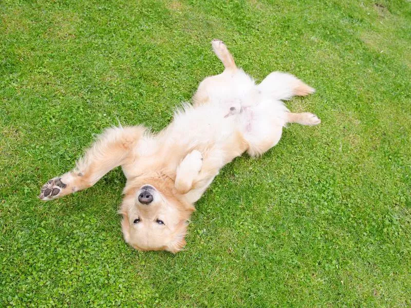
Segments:
[[[124,239],[141,251],[180,251],[194,206],[173,187],[144,184],[126,192],[120,213]]]

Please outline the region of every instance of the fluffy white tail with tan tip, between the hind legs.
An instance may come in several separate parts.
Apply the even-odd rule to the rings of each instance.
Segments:
[[[270,73],[257,89],[275,100],[289,100],[294,95],[306,96],[314,93],[314,89],[306,85],[294,75],[282,72]]]

